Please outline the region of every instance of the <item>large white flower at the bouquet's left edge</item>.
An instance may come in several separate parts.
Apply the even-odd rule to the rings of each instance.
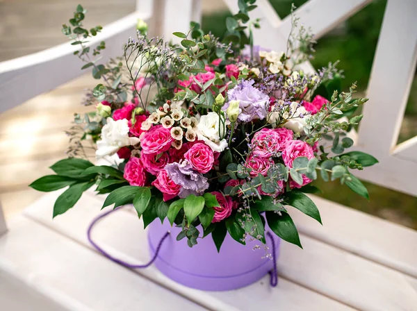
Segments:
[[[113,120],[107,118],[107,124],[101,129],[101,140],[97,141],[97,159],[113,155],[123,146],[131,146],[140,142],[138,137],[129,137],[127,119]]]

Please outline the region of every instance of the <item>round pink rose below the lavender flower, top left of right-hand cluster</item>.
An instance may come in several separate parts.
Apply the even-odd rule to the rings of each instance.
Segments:
[[[252,138],[252,152],[259,157],[268,158],[284,148],[281,146],[280,140],[281,137],[276,131],[262,128]]]

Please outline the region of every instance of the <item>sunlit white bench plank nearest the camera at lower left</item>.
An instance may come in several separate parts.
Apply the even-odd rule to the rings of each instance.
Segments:
[[[29,219],[16,219],[0,238],[0,267],[71,310],[203,310]],[[161,299],[163,297],[163,299]],[[74,308],[72,308],[74,307]]]

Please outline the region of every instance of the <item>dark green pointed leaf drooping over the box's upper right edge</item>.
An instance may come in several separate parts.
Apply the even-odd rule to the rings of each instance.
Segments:
[[[268,226],[273,233],[281,237],[281,239],[284,239],[284,241],[290,242],[302,248],[300,236],[298,235],[297,228],[295,228],[295,224],[290,215],[286,212],[281,212],[281,215],[276,212],[266,212],[265,214]]]

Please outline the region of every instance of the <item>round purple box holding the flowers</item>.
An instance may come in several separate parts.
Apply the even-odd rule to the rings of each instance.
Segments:
[[[272,252],[272,241],[268,237],[269,249],[265,251],[259,241],[243,245],[227,234],[218,253],[211,236],[197,239],[198,244],[190,248],[186,238],[177,241],[181,228],[171,227],[168,221],[164,224],[153,221],[148,228],[151,256],[163,235],[168,230],[171,232],[163,242],[155,264],[165,276],[188,287],[208,291],[237,289],[256,282],[273,268],[272,260],[263,258],[266,252]],[[202,228],[198,229],[201,233]],[[274,240],[278,255],[280,239],[275,236]],[[254,249],[256,245],[261,248]]]

